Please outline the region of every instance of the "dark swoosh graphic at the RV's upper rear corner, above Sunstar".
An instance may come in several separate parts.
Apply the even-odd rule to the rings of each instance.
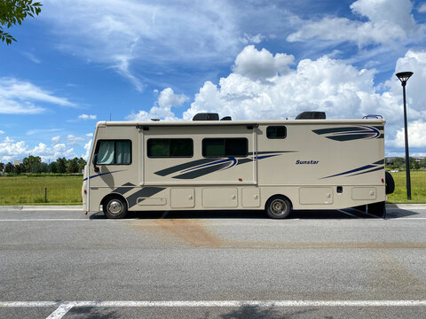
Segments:
[[[320,128],[313,129],[312,132],[339,142],[352,141],[358,139],[383,138],[383,126],[359,125],[345,128]]]

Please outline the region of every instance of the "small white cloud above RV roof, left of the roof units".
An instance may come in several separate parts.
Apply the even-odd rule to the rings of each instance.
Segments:
[[[166,121],[176,121],[177,117],[171,111],[171,107],[179,106],[188,100],[184,94],[175,94],[173,89],[163,89],[155,102],[155,105],[149,110],[131,113],[126,117],[128,121],[150,121],[151,119],[162,119]]]

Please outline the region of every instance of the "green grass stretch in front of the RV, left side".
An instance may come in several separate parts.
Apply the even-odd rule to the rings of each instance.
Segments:
[[[0,177],[0,205],[81,205],[82,183],[82,175]]]

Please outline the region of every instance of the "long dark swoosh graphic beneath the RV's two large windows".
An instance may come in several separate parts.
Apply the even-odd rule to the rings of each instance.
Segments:
[[[172,178],[176,179],[194,179],[203,175],[217,172],[219,170],[229,169],[241,164],[253,162],[255,159],[267,159],[275,156],[280,156],[282,153],[298,152],[298,151],[276,151],[276,152],[248,152],[249,158],[209,158],[197,159],[174,167],[168,167],[155,172],[154,174],[160,176],[172,175],[179,173]]]

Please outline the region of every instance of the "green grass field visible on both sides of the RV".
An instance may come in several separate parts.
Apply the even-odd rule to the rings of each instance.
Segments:
[[[406,172],[391,174],[395,192],[389,203],[426,203],[426,171],[411,172],[411,201],[406,200]],[[81,205],[82,183],[81,175],[0,177],[0,205]]]

